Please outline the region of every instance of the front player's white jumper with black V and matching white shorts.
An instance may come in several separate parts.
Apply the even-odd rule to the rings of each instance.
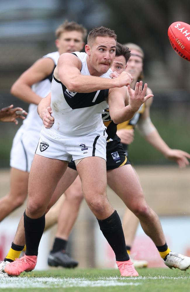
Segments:
[[[90,75],[87,54],[74,52],[82,62],[82,75]],[[102,78],[110,78],[111,69]],[[51,84],[51,109],[54,124],[42,126],[36,154],[65,161],[89,156],[106,160],[106,127],[102,111],[108,106],[108,89],[91,93],[70,92],[54,76]]]

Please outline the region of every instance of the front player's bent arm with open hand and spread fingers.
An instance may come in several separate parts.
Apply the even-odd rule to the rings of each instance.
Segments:
[[[153,96],[152,94],[145,96],[146,89],[147,84],[145,83],[144,88],[142,89],[142,81],[140,81],[136,83],[134,90],[132,90],[130,86],[128,86],[128,88],[124,86],[122,88],[112,88],[109,90],[109,112],[110,117],[115,124],[120,124],[132,119],[141,105],[148,100],[148,98]]]

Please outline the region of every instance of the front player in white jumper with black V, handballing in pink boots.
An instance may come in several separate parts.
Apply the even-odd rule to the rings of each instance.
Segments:
[[[85,46],[87,66],[85,62],[82,64],[85,61],[83,53],[77,53],[80,58],[65,53],[58,60],[51,86],[51,108],[55,117],[55,126],[51,129],[42,127],[36,150],[38,154],[34,156],[30,171],[28,202],[24,213],[27,249],[24,257],[6,265],[5,272],[10,275],[19,275],[23,271],[34,269],[45,226],[44,212],[71,158],[75,160],[82,180],[87,204],[98,218],[100,228],[115,252],[121,274],[138,275],[127,255],[120,218],[106,196],[107,135],[105,135],[101,113],[108,97],[106,88],[111,88],[108,102],[115,123],[132,118],[141,104],[152,95],[145,97],[147,84],[143,91],[142,84],[137,84],[135,93],[130,95],[128,105],[125,106],[127,97],[125,85],[131,83],[131,75],[122,72],[116,79],[102,78],[109,76],[107,72],[115,56],[115,46],[115,32],[100,27],[92,30],[88,35],[88,44]],[[87,75],[81,74],[80,70],[83,67],[83,74]],[[83,116],[79,115],[79,109],[84,113]],[[63,113],[61,118],[58,114],[59,110]],[[64,114],[67,117],[65,123],[68,125],[61,128]],[[74,120],[76,116],[79,118],[78,123],[80,122],[78,132],[74,128],[77,126]],[[73,133],[70,130],[73,130]],[[82,135],[83,133],[86,135]],[[42,145],[46,146],[46,149],[44,147],[42,149]]]

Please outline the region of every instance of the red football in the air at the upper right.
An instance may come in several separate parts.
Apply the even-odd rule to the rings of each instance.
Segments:
[[[190,25],[182,21],[174,22],[167,34],[175,52],[190,62]]]

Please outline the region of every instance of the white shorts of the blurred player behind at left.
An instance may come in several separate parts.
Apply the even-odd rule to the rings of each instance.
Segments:
[[[30,172],[39,134],[39,131],[23,131],[22,128],[17,131],[11,148],[11,167]]]

